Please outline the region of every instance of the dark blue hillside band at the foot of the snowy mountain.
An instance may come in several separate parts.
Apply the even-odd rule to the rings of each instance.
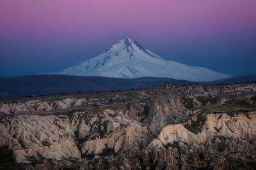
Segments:
[[[202,84],[237,83],[256,80],[252,74],[232,76],[216,81],[200,82]],[[139,87],[152,87],[170,81],[172,84],[184,85],[196,83],[172,78],[109,78],[100,76],[35,75],[0,78],[0,97],[38,96],[60,93],[96,92],[98,90],[122,90]]]

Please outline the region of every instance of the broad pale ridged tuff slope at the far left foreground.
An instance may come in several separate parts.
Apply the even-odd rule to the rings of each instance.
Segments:
[[[0,124],[1,146],[13,148],[13,157],[19,163],[28,163],[26,157],[38,159],[37,153],[47,159],[81,158],[72,139],[74,134],[64,130],[70,128],[68,118],[62,119],[36,115],[6,117]]]

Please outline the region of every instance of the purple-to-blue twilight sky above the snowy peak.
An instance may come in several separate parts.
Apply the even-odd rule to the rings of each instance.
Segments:
[[[256,74],[255,0],[0,1],[0,76],[60,71],[130,37],[168,60]]]

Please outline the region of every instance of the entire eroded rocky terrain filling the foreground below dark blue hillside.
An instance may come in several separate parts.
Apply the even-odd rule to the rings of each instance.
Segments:
[[[38,108],[44,102],[57,107],[53,104],[53,112],[4,112],[0,146],[8,147],[15,165],[25,169],[253,169],[255,90],[250,83],[235,86],[250,91],[220,94],[209,87],[209,96],[197,96],[184,90],[191,87],[166,83],[37,101]],[[70,111],[78,100],[79,110]],[[20,103],[31,107],[35,101]],[[67,105],[58,108],[60,103]],[[20,106],[5,104],[2,108]]]

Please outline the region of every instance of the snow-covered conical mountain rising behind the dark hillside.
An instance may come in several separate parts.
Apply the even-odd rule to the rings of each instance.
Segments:
[[[99,56],[54,74],[116,78],[151,76],[189,81],[212,81],[229,76],[205,67],[164,60],[150,50],[145,50],[131,38],[121,39]]]

